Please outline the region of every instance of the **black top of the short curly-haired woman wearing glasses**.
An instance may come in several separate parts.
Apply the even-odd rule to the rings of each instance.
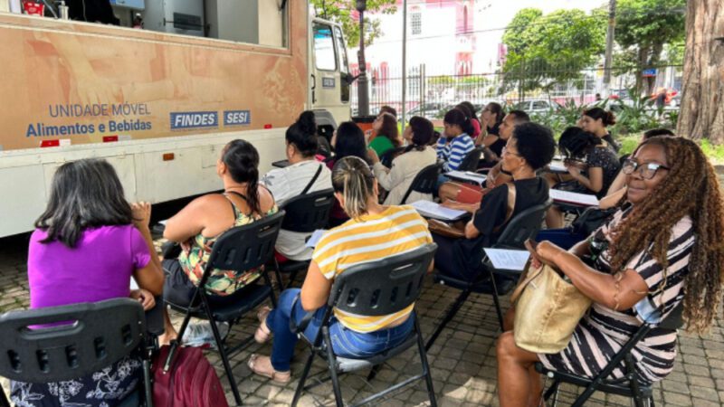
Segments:
[[[545,204],[548,201],[548,183],[541,177],[521,179],[514,181],[515,207],[513,214],[517,215],[531,206]],[[503,232],[505,215],[508,213],[508,185],[499,185],[488,194],[482,196],[481,208],[472,217],[472,224],[481,232],[475,239],[458,239],[459,254],[464,259],[468,270],[481,268],[482,249],[491,247]],[[496,231],[496,228],[498,229]]]

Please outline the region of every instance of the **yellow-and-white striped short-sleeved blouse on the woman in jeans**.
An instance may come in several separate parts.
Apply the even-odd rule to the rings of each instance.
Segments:
[[[364,215],[329,230],[319,240],[312,260],[327,279],[334,279],[349,267],[395,254],[414,251],[431,243],[427,222],[412,206],[389,206],[383,213]],[[392,315],[366,317],[338,309],[339,322],[349,329],[368,333],[394,327],[412,312],[414,304]]]

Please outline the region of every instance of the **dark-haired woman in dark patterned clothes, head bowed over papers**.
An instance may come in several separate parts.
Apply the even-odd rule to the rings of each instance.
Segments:
[[[575,127],[567,128],[561,134],[558,147],[567,157],[564,164],[568,174],[565,181],[558,183],[556,175],[548,176],[548,183],[554,189],[602,198],[621,167],[614,150],[601,138]],[[546,223],[551,229],[562,228],[563,210],[559,206],[551,207]]]

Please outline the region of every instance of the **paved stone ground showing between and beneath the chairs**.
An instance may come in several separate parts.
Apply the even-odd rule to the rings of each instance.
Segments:
[[[0,312],[28,307],[28,286],[25,268],[24,246],[26,239],[2,240],[0,245]],[[421,325],[425,335],[433,330],[444,310],[458,295],[455,289],[434,285],[427,281],[427,289],[417,303]],[[506,304],[507,306],[507,304]],[[179,317],[174,317],[176,322]],[[251,335],[256,327],[250,316],[233,329],[232,342]],[[495,338],[498,335],[497,319],[488,296],[472,295],[462,307],[458,316],[443,331],[436,345],[429,352],[432,365],[435,392],[441,406],[489,406],[498,405]],[[718,320],[708,336],[683,334],[679,342],[680,353],[674,372],[655,386],[656,402],[671,406],[719,406],[724,402],[724,329]],[[268,355],[271,345],[253,344],[232,358],[233,372],[245,405],[288,405],[296,388],[297,380],[287,385],[277,385],[262,377],[252,375],[245,362],[252,352]],[[292,364],[292,372],[299,374],[301,364],[307,356],[300,344]],[[390,365],[377,374],[375,380],[367,383],[367,372],[343,376],[342,392],[347,401],[361,400],[368,394],[382,389],[386,383],[419,372],[421,365],[414,350],[410,350],[390,361]],[[218,356],[209,354],[217,367],[224,386],[228,386]],[[317,362],[313,372],[323,368]],[[316,369],[316,370],[315,370]],[[7,381],[0,381],[7,389]],[[561,405],[571,400],[576,389],[564,387]],[[334,405],[331,385],[325,383],[306,393],[301,399],[302,406]],[[233,403],[227,388],[227,398]],[[427,405],[424,383],[395,393],[377,405],[406,406]],[[596,393],[588,403],[591,406],[625,405],[627,399]]]

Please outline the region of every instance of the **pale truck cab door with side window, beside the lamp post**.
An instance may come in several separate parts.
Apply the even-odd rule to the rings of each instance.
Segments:
[[[312,108],[328,110],[337,124],[348,120],[347,50],[337,25],[316,19],[312,21],[312,64]]]

